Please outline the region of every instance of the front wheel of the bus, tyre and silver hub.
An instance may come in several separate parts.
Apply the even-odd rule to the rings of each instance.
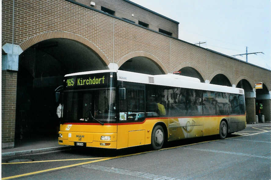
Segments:
[[[152,148],[161,149],[165,140],[165,133],[160,125],[156,125],[152,130]]]

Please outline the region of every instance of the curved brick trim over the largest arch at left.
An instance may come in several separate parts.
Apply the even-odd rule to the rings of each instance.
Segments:
[[[50,31],[50,32],[37,34],[37,35],[25,40],[24,42],[20,43],[19,46],[21,47],[21,49],[23,51],[25,51],[27,48],[31,47],[32,45],[34,45],[40,41],[44,41],[47,39],[53,39],[53,38],[65,38],[65,39],[71,39],[74,41],[78,41],[78,42],[86,45],[90,49],[92,49],[94,52],[96,52],[101,57],[101,59],[106,63],[106,65],[108,65],[110,63],[108,57],[93,42],[91,42],[90,40],[88,40],[78,34],[66,32],[66,31]]]

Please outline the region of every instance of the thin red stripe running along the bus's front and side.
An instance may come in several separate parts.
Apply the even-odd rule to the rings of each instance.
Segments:
[[[146,120],[152,119],[178,119],[178,118],[198,118],[198,117],[229,117],[229,116],[245,116],[245,114],[241,115],[219,115],[219,116],[183,116],[183,117],[147,117],[142,122],[127,122],[127,123],[104,123],[107,126],[115,126],[115,125],[129,125],[129,124],[143,124]],[[101,125],[100,123],[64,123],[64,124],[75,124],[75,125]]]

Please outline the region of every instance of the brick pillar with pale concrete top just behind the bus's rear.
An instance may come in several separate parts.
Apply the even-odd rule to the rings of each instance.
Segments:
[[[247,124],[255,123],[256,105],[255,105],[255,92],[245,92]]]

